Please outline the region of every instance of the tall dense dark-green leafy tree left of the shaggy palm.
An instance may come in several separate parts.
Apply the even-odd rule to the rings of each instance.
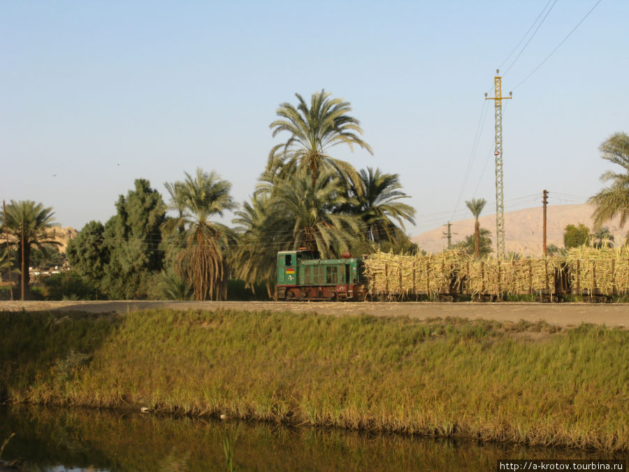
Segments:
[[[163,268],[160,243],[166,206],[148,180],[136,179],[133,190],[120,195],[116,210],[103,231],[109,260],[102,285],[112,299],[143,299],[152,274]]]

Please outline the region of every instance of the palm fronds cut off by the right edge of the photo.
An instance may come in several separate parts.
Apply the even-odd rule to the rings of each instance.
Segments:
[[[629,218],[629,134],[612,134],[601,143],[598,150],[602,159],[623,167],[623,172],[607,171],[600,176],[601,182],[610,182],[611,185],[588,200],[596,207],[592,215],[594,227],[600,227],[616,215],[620,215],[623,227]]]

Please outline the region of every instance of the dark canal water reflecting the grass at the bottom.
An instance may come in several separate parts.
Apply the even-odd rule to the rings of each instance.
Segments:
[[[15,436],[11,437],[11,434]],[[490,471],[498,459],[612,459],[565,449],[293,428],[136,411],[0,407],[3,464],[28,471]],[[0,466],[0,470],[1,466]]]

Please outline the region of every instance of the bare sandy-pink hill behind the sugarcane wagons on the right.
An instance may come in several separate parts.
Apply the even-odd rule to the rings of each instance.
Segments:
[[[552,205],[547,207],[547,243],[563,248],[563,229],[567,224],[583,223],[592,229],[593,207],[588,203],[580,205]],[[621,229],[619,217],[604,226],[614,235],[616,245],[625,241],[629,224]],[[491,242],[496,251],[496,214],[479,218],[482,228],[491,231]],[[542,207],[505,213],[505,245],[507,252],[522,252],[524,255],[542,254]],[[411,238],[420,249],[427,252],[440,252],[447,248],[444,236],[446,227],[438,227]],[[452,222],[452,243],[463,241],[465,236],[474,233],[474,218]]]

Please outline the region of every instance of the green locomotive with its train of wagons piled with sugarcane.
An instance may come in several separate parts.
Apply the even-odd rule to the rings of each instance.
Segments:
[[[608,302],[629,296],[629,255],[623,250],[599,256],[484,261],[454,252],[380,259],[346,253],[340,259],[320,259],[317,251],[281,251],[277,299],[500,301],[526,295],[538,301],[577,296]]]

